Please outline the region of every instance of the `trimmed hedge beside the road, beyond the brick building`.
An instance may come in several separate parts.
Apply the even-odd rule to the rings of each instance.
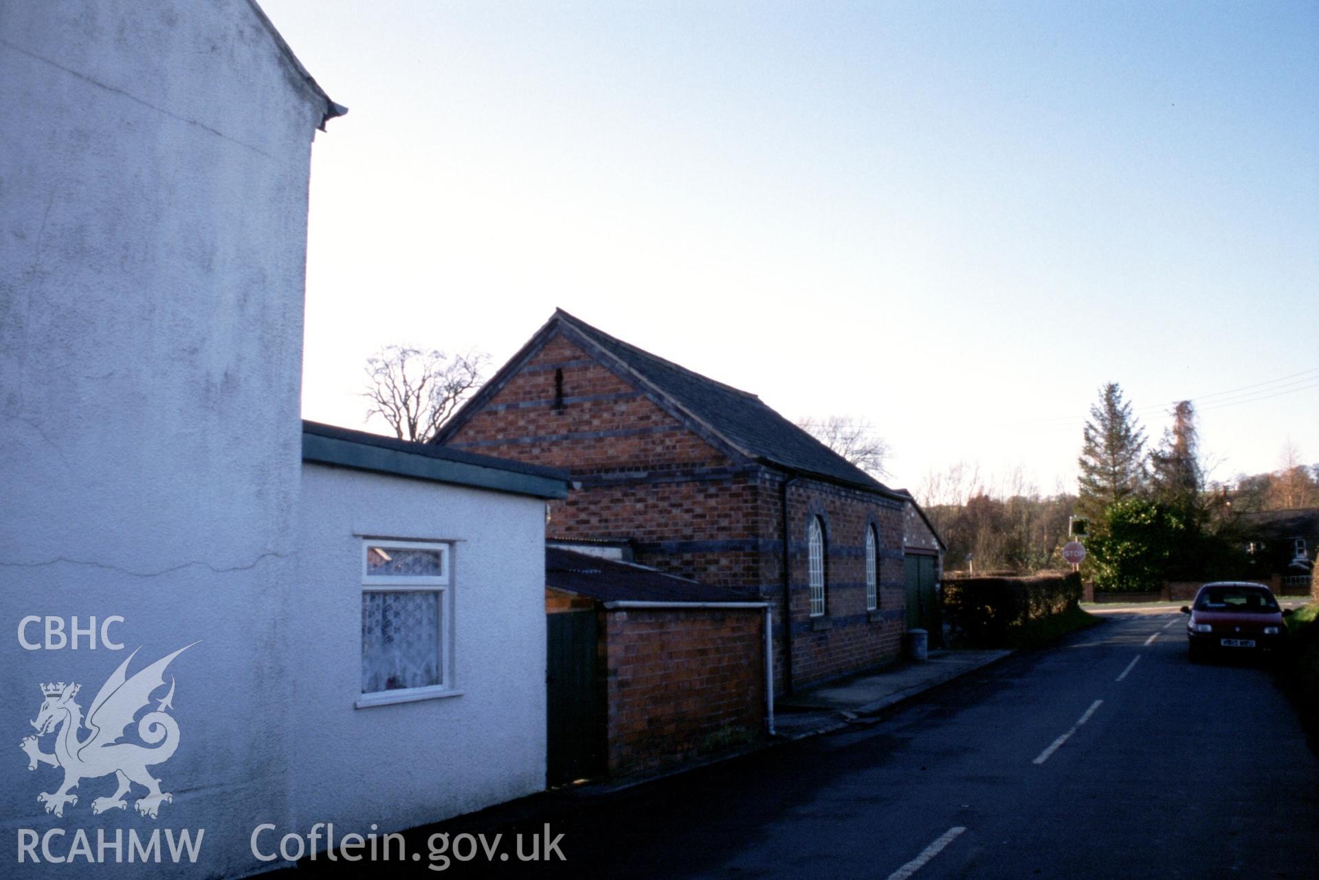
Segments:
[[[1029,578],[948,578],[943,582],[943,620],[954,639],[1001,645],[1014,627],[1079,608],[1080,575]]]

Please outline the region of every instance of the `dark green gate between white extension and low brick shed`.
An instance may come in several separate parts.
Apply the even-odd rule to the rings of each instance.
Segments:
[[[546,615],[546,784],[604,770],[604,701],[596,678],[595,611]]]

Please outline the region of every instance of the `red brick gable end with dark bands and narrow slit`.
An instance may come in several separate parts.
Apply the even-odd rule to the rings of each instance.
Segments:
[[[731,462],[565,336],[448,446],[571,471],[582,488],[550,504],[551,537],[627,537],[642,565],[758,592],[760,468]]]

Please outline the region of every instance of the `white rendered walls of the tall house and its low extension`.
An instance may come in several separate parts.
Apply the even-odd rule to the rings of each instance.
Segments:
[[[0,82],[5,872],[18,829],[204,829],[202,868],[119,873],[235,876],[262,867],[248,843],[261,822],[400,827],[539,788],[541,503],[301,466],[324,100],[245,0],[0,4]],[[353,710],[352,532],[405,524],[466,541],[467,694]],[[120,615],[125,649],[26,650],[26,615]],[[92,815],[112,777],[84,780],[62,818],[45,813],[36,796],[61,774],[29,772],[13,748],[38,682],[80,682],[86,710],[133,648],[136,670],[197,640],[169,669],[181,744],[154,768],[174,796],[160,818]]]

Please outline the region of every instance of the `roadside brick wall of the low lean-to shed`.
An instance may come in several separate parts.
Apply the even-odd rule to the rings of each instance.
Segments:
[[[605,613],[608,768],[627,776],[765,735],[760,610]]]

